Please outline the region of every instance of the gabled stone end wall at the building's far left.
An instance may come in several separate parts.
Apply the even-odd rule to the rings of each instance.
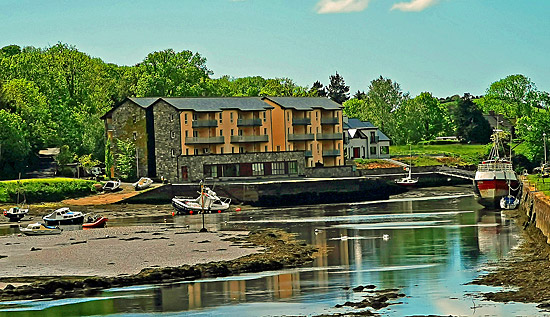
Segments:
[[[116,140],[128,140],[134,143],[137,152],[138,176],[149,175],[147,152],[146,111],[131,101],[126,101],[112,114],[112,122],[108,130],[112,131],[112,153],[116,162],[118,148]]]

